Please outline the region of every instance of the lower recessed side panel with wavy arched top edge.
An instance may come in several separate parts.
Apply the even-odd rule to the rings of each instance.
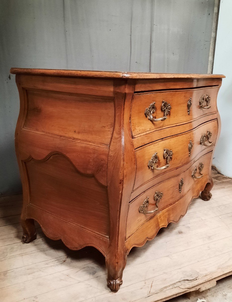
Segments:
[[[80,174],[62,154],[25,162],[30,183],[29,205],[109,236],[109,206],[106,187],[93,176]],[[45,227],[45,226],[44,226]]]

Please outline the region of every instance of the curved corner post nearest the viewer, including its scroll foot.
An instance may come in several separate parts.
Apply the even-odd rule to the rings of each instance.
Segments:
[[[114,81],[115,121],[110,143],[107,187],[110,208],[110,243],[106,254],[107,285],[116,292],[126,265],[126,217],[135,178],[135,151],[130,131],[134,81]]]

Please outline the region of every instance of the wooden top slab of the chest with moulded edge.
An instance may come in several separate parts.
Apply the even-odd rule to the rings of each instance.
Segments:
[[[117,71],[90,71],[90,70],[65,70],[65,69],[32,69],[11,68],[12,74],[34,76],[60,76],[96,79],[221,79],[224,75],[213,74],[187,74],[187,73],[151,73],[151,72],[117,72]]]

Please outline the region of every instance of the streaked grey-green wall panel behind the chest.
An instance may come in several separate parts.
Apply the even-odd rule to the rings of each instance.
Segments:
[[[214,0],[1,0],[0,196],[21,191],[11,67],[207,73]]]

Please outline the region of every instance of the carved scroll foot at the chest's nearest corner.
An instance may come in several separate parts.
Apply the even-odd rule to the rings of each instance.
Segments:
[[[122,272],[126,265],[126,258],[126,253],[106,257],[106,267],[108,270],[107,286],[113,293],[116,293],[122,285]]]

